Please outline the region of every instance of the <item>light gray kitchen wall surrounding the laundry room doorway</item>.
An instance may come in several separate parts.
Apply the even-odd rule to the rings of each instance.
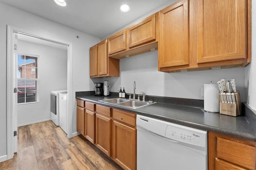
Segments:
[[[89,49],[100,39],[75,29],[46,20],[36,15],[0,3],[0,156],[7,154],[6,133],[6,33],[11,25],[40,35],[69,41],[73,44],[73,96],[72,96],[72,132],[76,132],[76,91],[93,90],[90,80]],[[79,39],[76,36],[79,35]]]

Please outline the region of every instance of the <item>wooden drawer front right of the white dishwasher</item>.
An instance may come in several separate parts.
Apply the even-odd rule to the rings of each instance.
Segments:
[[[248,169],[255,169],[256,148],[217,137],[217,158],[234,162]]]

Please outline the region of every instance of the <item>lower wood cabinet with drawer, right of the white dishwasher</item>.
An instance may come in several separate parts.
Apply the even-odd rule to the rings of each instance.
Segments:
[[[256,142],[208,132],[208,170],[256,170]]]

